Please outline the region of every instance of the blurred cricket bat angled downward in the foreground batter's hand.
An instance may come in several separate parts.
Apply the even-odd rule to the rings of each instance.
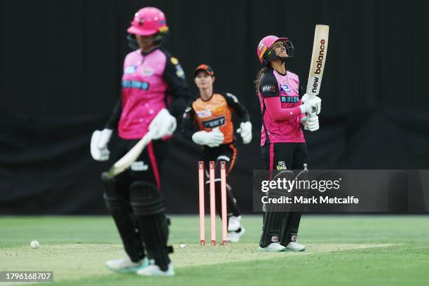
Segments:
[[[115,177],[116,175],[121,174],[121,172],[127,170],[132,163],[134,163],[140,154],[142,154],[142,151],[144,148],[147,147],[147,145],[154,139],[155,135],[154,129],[149,130],[149,132],[144,135],[142,139],[140,139],[137,144],[135,144],[134,147],[130,151],[128,151],[127,154],[125,154],[121,159],[119,159],[116,163],[114,163],[113,166],[111,166],[109,172],[107,172],[107,177],[109,179]]]

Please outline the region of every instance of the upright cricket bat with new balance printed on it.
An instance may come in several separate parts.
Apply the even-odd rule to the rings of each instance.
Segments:
[[[310,72],[308,74],[307,93],[310,99],[319,94],[322,85],[323,69],[327,56],[329,26],[316,25],[314,31],[313,53],[311,55]]]

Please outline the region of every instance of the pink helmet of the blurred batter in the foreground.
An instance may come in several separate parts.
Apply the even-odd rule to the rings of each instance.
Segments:
[[[163,11],[158,8],[145,7],[135,13],[127,32],[140,36],[151,36],[158,32],[165,33],[168,32],[167,20]]]

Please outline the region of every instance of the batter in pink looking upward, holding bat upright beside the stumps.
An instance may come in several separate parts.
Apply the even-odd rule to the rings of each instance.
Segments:
[[[261,154],[268,170],[302,170],[307,161],[307,147],[302,128],[318,130],[321,100],[308,100],[297,74],[287,69],[294,46],[287,38],[266,36],[257,46],[263,68],[255,80],[261,103]],[[314,107],[314,109],[313,109]],[[315,110],[315,112],[313,112]],[[313,114],[312,114],[313,112]],[[308,114],[308,115],[306,115]],[[297,243],[301,212],[264,212],[264,227],[259,251],[304,251]]]

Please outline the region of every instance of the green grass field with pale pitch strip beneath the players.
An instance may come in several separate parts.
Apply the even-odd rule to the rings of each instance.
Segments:
[[[242,222],[240,243],[200,247],[198,217],[172,217],[176,276],[143,278],[104,267],[123,256],[110,217],[0,217],[0,271],[54,271],[46,285],[429,285],[428,216],[304,215],[300,253],[257,252],[261,217]]]

